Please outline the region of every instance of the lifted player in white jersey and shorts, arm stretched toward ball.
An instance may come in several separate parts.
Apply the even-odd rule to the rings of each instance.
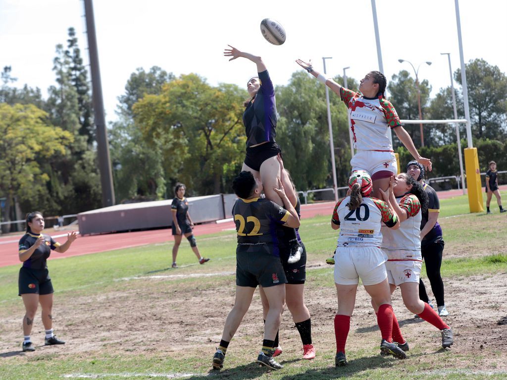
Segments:
[[[311,63],[296,60],[308,73],[327,85],[343,100],[350,116],[350,128],[356,154],[350,160],[352,172],[366,170],[373,180],[372,196],[380,198],[379,189],[389,187],[389,178],[397,173],[396,157],[389,140],[389,128],[414,158],[431,171],[431,160],[421,157],[410,135],[403,128],[392,104],[385,98],[385,76],[372,71],[360,80],[359,91],[340,86],[332,78],[325,78],[314,70]]]

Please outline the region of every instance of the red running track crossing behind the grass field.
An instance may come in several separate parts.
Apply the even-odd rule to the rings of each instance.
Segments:
[[[507,186],[500,186],[501,190],[507,190]],[[440,199],[451,198],[462,195],[462,190],[439,191]],[[313,218],[316,215],[332,215],[334,202],[323,202],[313,204],[303,204],[301,206],[301,218]],[[196,236],[220,232],[224,230],[233,230],[235,225],[232,221],[223,223],[199,224],[195,227]],[[65,243],[66,237],[61,236],[64,232],[58,231],[52,234],[59,243]],[[7,265],[20,264],[18,258],[18,241],[23,236],[8,235],[0,237],[0,267]],[[130,247],[139,247],[148,244],[164,243],[171,241],[172,235],[170,228],[149,231],[123,232],[103,235],[80,236],[73,243],[72,247],[65,253],[52,252],[51,258],[63,258],[78,255],[88,255],[90,253],[111,251]]]

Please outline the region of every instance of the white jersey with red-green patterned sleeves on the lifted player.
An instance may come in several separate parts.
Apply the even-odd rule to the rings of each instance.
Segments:
[[[392,104],[381,96],[366,98],[344,87],[340,97],[348,108],[354,148],[392,151],[388,128],[402,125]]]

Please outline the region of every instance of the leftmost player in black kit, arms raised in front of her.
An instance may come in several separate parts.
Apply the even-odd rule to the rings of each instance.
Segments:
[[[19,240],[19,260],[23,266],[19,270],[19,295],[23,299],[26,313],[23,317],[23,351],[35,351],[30,340],[33,319],[38,304],[42,307],[42,323],[46,329],[45,345],[63,344],[53,334],[53,285],[49,277],[46,260],[51,250],[63,253],[77,238],[75,231],[67,234],[67,241],[60,245],[49,235],[42,233],[44,217],[40,212],[26,215],[26,234]]]

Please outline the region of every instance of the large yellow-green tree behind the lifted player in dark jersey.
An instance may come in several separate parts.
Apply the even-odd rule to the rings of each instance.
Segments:
[[[241,169],[245,152],[242,100],[236,85],[210,86],[182,75],[133,106],[146,141],[164,157],[164,171],[199,194],[230,191],[229,179]]]

